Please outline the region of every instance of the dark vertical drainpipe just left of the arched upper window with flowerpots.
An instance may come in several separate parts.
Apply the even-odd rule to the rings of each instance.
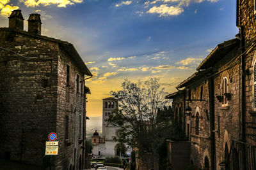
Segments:
[[[210,129],[211,129],[211,167],[216,169],[216,145],[215,145],[215,114],[214,114],[214,80],[211,76],[208,81],[209,88],[209,114],[210,114]]]

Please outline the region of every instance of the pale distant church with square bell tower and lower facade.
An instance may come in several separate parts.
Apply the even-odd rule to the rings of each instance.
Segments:
[[[113,140],[113,136],[118,136],[119,128],[109,124],[106,119],[118,108],[118,99],[108,97],[102,99],[102,104],[102,136],[97,131],[92,136],[93,155],[114,156],[120,153],[118,143]]]

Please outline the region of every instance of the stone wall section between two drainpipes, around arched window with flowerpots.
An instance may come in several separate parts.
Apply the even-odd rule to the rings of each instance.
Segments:
[[[237,48],[228,53],[223,60],[216,64],[216,71],[221,71],[228,60],[239,55]],[[226,61],[225,61],[226,60]],[[234,66],[222,71],[214,76],[214,94],[221,96],[222,81],[227,78],[227,92],[231,98],[227,104],[223,104],[214,97],[214,112],[215,112],[215,143],[216,143],[216,169],[221,162],[225,161],[225,144],[227,143],[228,150],[232,140],[239,140],[241,136],[241,115],[240,103],[241,100],[241,67],[239,60]]]

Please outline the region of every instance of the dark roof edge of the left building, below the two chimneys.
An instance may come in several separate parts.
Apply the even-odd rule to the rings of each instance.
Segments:
[[[72,43],[68,43],[67,41],[62,41],[60,39],[50,38],[50,37],[42,36],[42,35],[38,35],[38,34],[31,34],[28,31],[10,29],[10,28],[6,28],[6,27],[0,28],[0,31],[14,31],[14,32],[18,32],[20,34],[25,34],[27,36],[33,36],[35,38],[41,38],[41,39],[45,39],[45,40],[48,40],[48,41],[54,41],[55,43],[59,44],[61,50],[64,50],[65,52],[67,52],[68,55],[70,56],[70,58],[72,60],[74,60],[74,62],[76,62],[76,65],[79,67],[79,69],[81,69],[81,72],[83,74],[86,74],[88,76],[92,76],[92,73],[90,72],[88,67],[84,64],[83,59],[81,58],[81,56],[77,52],[74,45],[72,45]]]

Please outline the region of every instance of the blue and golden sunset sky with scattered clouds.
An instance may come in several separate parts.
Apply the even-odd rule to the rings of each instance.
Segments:
[[[166,92],[218,43],[234,38],[234,0],[1,0],[0,27],[12,10],[40,13],[42,34],[73,43],[93,78],[86,80],[87,115],[102,115],[102,99],[131,81],[158,76]]]

